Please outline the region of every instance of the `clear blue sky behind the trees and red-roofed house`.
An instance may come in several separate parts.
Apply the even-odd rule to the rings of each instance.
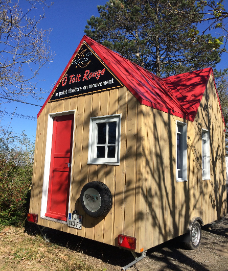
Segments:
[[[37,85],[39,88],[49,91],[43,93],[42,100],[28,97],[25,102],[42,106],[47,99],[51,86],[58,81],[62,71],[74,54],[84,33],[86,20],[92,15],[99,16],[97,5],[105,5],[107,0],[56,0],[50,7],[44,8],[45,18],[39,24],[39,28],[52,29],[50,34],[51,51],[55,53],[52,63],[39,72],[39,79],[42,80]],[[24,6],[25,0],[20,0],[21,8]],[[49,2],[50,3],[50,2]],[[34,15],[42,14],[41,6],[37,6]],[[228,10],[228,4],[225,5]],[[228,67],[228,55],[222,56],[222,61],[217,64],[216,68],[224,69]],[[44,80],[44,81],[43,81]],[[3,101],[3,100],[2,100]],[[41,107],[22,104],[18,102],[4,103],[0,105],[0,111],[15,112],[17,114],[35,117],[35,120],[13,117],[12,114],[4,114],[0,112],[0,126],[8,128],[9,131],[21,133],[25,131],[32,141],[36,135],[36,116]],[[12,119],[11,119],[12,118]]]

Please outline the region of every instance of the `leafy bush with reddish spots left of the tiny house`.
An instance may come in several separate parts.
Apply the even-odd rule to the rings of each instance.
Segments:
[[[0,225],[20,226],[29,208],[34,143],[0,131]]]

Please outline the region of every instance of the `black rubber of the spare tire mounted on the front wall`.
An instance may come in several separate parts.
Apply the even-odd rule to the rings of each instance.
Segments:
[[[89,188],[93,188],[97,190],[97,192],[100,195],[101,205],[99,209],[96,211],[90,211],[85,206],[84,194],[86,190]],[[107,185],[102,182],[89,182],[85,184],[81,190],[80,199],[81,199],[81,205],[82,205],[83,210],[85,211],[87,215],[91,217],[105,216],[108,214],[108,212],[111,210],[111,207],[112,207],[111,191],[109,190]]]

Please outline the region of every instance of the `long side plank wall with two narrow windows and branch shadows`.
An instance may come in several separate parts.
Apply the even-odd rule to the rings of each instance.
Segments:
[[[150,107],[142,111],[141,236],[146,237],[140,247],[149,249],[186,233],[194,216],[208,224],[226,214],[224,124],[212,76],[194,122]],[[175,179],[176,120],[187,123],[187,182]],[[202,180],[202,129],[210,131],[211,180]]]

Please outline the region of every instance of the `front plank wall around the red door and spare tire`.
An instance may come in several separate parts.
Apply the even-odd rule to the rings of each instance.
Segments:
[[[38,224],[53,229],[77,234],[108,244],[117,244],[118,234],[135,236],[135,220],[139,220],[135,209],[140,188],[136,182],[140,170],[138,142],[139,102],[125,87],[91,95],[79,96],[64,101],[48,103],[37,122],[34,174],[30,212],[40,215],[45,143],[47,139],[48,114],[76,110],[75,134],[72,159],[72,186],[70,212],[78,210],[83,215],[82,230],[69,228],[65,224],[39,218]],[[87,164],[89,119],[94,116],[122,114],[120,165]],[[86,215],[79,203],[82,187],[90,181],[104,182],[113,195],[113,205],[106,217],[92,218]]]

